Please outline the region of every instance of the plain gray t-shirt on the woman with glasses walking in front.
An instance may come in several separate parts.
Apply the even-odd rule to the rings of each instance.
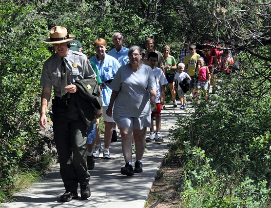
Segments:
[[[149,91],[156,88],[156,83],[150,66],[142,64],[136,72],[129,67],[129,64],[121,66],[110,88],[118,92],[114,104],[114,118],[116,116],[141,117],[151,114]]]

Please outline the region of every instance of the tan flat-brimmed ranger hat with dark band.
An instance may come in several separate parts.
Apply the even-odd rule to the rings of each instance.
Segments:
[[[50,30],[50,37],[43,40],[45,43],[62,43],[75,39],[75,35],[69,35],[67,29],[62,26],[55,26]]]

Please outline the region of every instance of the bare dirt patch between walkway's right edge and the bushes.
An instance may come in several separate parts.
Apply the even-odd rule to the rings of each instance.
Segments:
[[[164,163],[157,172],[145,208],[181,208],[182,173],[179,159]]]

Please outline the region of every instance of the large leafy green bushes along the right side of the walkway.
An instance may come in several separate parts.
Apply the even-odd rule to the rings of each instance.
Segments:
[[[238,74],[222,76],[218,94],[195,102],[190,116],[177,118],[174,142],[184,154],[187,207],[267,207],[271,202],[271,98],[260,91],[240,96],[238,83]]]

